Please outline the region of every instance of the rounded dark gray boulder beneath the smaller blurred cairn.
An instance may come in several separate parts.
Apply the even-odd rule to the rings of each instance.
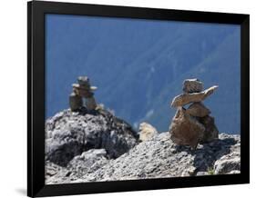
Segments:
[[[103,148],[117,158],[136,144],[137,132],[106,110],[65,110],[46,120],[46,160],[61,166],[89,149]]]

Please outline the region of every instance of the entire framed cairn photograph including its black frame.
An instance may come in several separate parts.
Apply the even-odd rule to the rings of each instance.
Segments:
[[[250,182],[249,15],[27,5],[27,195]]]

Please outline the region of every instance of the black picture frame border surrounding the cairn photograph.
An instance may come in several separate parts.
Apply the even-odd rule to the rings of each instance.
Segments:
[[[241,173],[133,181],[45,184],[45,15],[98,15],[241,25]],[[250,182],[250,15],[112,5],[27,3],[27,195],[126,192]]]

